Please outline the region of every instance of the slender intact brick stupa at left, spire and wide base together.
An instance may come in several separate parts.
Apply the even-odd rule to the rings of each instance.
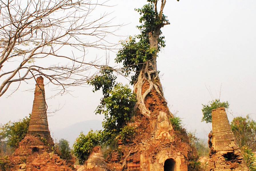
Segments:
[[[35,98],[29,129],[27,135],[19,143],[14,155],[42,154],[45,151],[51,151],[53,146],[53,139],[48,128],[43,77],[40,76],[37,78],[37,84],[35,85]]]

